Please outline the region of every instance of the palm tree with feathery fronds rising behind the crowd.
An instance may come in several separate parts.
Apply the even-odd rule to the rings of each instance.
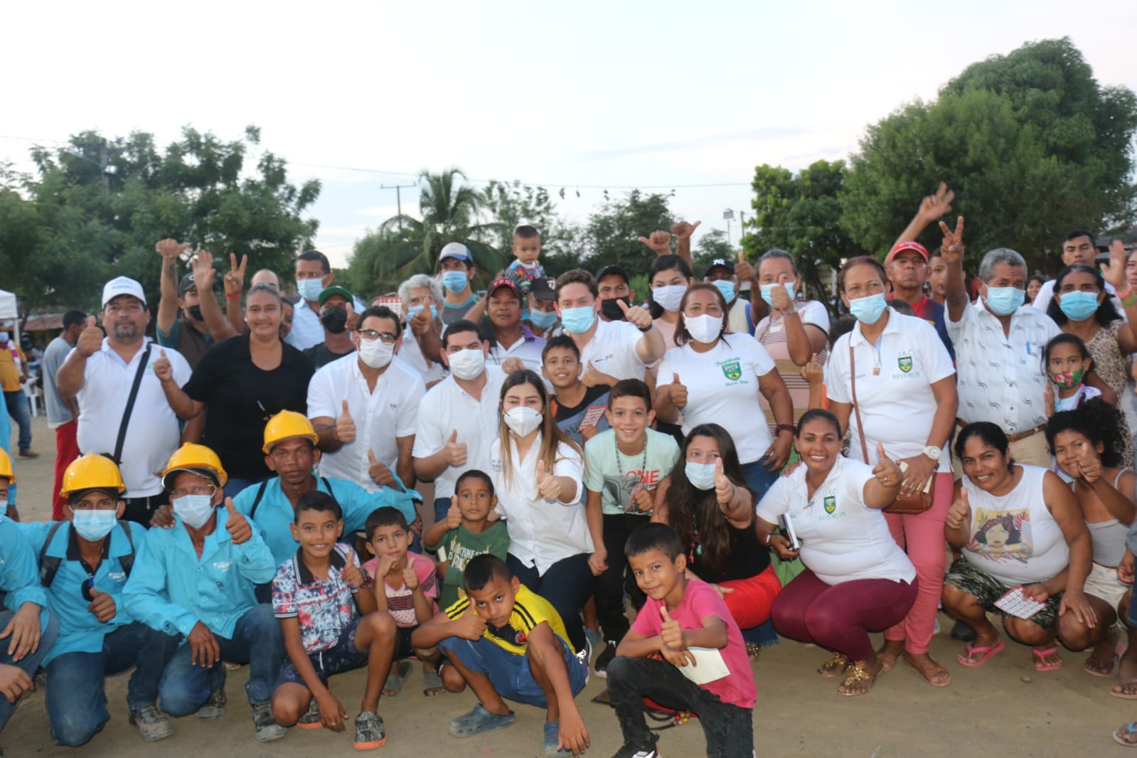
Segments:
[[[464,178],[466,175],[459,168],[447,168],[439,174],[418,172],[420,182],[425,182],[418,195],[422,218],[404,214],[380,225],[380,234],[398,241],[371,261],[371,274],[376,282],[397,284],[412,274],[433,274],[438,253],[448,242],[462,242],[470,248],[478,270],[475,283],[487,284],[501,270],[504,253],[478,239],[496,227],[479,222],[482,199],[472,186],[456,181]]]

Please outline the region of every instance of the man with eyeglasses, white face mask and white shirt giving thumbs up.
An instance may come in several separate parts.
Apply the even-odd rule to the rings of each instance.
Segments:
[[[422,375],[395,353],[402,347],[399,317],[387,306],[359,315],[351,332],[357,352],[333,360],[308,384],[308,418],[319,435],[319,473],[368,492],[415,484],[412,451]]]

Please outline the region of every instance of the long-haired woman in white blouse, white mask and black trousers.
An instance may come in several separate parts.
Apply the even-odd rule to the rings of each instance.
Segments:
[[[580,609],[595,577],[588,567],[583,456],[557,426],[545,383],[531,370],[514,372],[501,385],[490,468],[509,533],[509,572],[553,603],[573,649],[584,650]]]

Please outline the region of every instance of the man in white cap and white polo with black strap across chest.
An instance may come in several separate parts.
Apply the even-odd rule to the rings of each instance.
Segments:
[[[150,523],[155,509],[166,501],[161,480],[155,472],[165,467],[181,436],[177,416],[153,373],[159,353],[157,345],[149,349],[146,336],[149,323],[150,309],[142,285],[125,276],[110,280],[102,288],[106,338],[91,316],[75,349],[56,374],[59,394],[74,395],[78,402],[81,452],[115,453],[119,430],[125,427],[115,461],[126,484],[123,518],[143,525]],[[185,384],[190,380],[190,365],[173,348],[165,348],[165,352],[173,378],[179,385]],[[131,389],[139,377],[134,405],[127,409]],[[200,424],[198,419],[186,424],[186,439],[194,439]]]

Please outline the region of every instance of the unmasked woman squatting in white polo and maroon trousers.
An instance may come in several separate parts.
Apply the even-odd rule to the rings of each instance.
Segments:
[[[758,539],[785,559],[798,551],[774,525],[789,516],[805,564],[774,600],[774,628],[832,650],[818,673],[845,674],[837,691],[864,694],[881,666],[869,632],[903,619],[919,588],[881,513],[896,499],[903,475],[879,445],[875,468],[843,458],[841,428],[828,410],[802,416],[795,439],[804,465],[778,480],[757,510]]]

